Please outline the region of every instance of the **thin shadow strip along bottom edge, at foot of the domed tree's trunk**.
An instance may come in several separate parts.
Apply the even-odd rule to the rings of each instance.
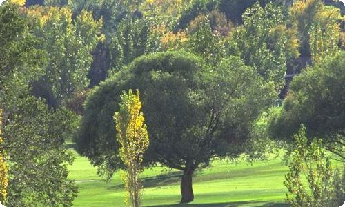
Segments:
[[[262,205],[264,201],[237,201],[237,202],[226,202],[226,203],[216,203],[216,204],[174,204],[174,205],[159,205],[159,206],[147,206],[147,207],[178,207],[178,206],[186,206],[186,207],[237,207],[237,206],[256,206],[257,207],[288,207],[288,205],[284,203],[268,203]]]

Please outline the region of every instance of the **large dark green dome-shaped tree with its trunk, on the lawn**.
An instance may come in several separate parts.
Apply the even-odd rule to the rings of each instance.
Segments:
[[[112,114],[121,91],[130,88],[141,91],[146,115],[150,148],[144,163],[183,171],[182,203],[194,199],[195,170],[213,157],[244,152],[253,121],[277,95],[238,57],[213,69],[182,51],[139,57],[90,92],[77,137],[78,152],[110,177],[123,166]]]

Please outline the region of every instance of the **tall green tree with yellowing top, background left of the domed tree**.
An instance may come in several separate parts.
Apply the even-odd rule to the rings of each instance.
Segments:
[[[34,82],[34,92],[57,108],[74,92],[88,88],[90,52],[102,38],[98,36],[102,21],[93,20],[87,11],[72,21],[72,11],[65,7],[33,7],[28,17],[38,21],[34,34],[41,41],[41,50],[50,57],[43,77]]]

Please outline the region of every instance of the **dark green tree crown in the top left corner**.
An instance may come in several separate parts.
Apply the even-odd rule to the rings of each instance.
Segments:
[[[42,50],[31,34],[32,24],[19,6],[5,2],[0,6],[0,108],[17,104],[30,81],[42,75]]]

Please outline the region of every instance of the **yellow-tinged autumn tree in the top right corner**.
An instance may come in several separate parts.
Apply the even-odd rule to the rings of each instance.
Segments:
[[[302,57],[312,57],[318,64],[324,56],[335,55],[340,32],[339,9],[325,6],[320,0],[299,0],[290,8],[290,17],[298,30]]]

